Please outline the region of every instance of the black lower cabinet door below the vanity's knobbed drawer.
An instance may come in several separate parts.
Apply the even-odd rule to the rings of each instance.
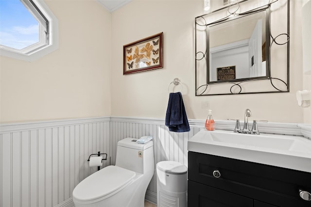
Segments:
[[[254,200],[188,180],[188,207],[253,207]]]

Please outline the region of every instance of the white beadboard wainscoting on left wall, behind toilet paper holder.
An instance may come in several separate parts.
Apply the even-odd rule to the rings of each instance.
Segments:
[[[109,121],[1,125],[0,206],[72,206],[74,187],[97,170],[88,167],[88,156],[110,153]],[[107,165],[109,159],[102,167]]]

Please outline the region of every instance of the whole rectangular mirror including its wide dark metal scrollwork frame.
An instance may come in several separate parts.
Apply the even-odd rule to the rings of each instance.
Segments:
[[[288,60],[289,5],[263,1],[242,0],[195,18],[196,96],[289,92],[289,64],[276,65],[276,78],[271,73],[271,55],[273,63]],[[272,34],[282,17],[285,31]]]

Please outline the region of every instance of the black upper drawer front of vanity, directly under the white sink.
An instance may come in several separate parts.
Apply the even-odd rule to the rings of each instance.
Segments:
[[[299,190],[311,192],[311,173],[196,152],[189,152],[188,159],[190,180],[276,206],[311,206],[299,196]],[[215,170],[219,178],[214,177]]]

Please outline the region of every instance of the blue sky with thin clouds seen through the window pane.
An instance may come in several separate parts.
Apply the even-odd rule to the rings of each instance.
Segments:
[[[0,45],[22,49],[39,42],[39,23],[20,0],[0,0]]]

